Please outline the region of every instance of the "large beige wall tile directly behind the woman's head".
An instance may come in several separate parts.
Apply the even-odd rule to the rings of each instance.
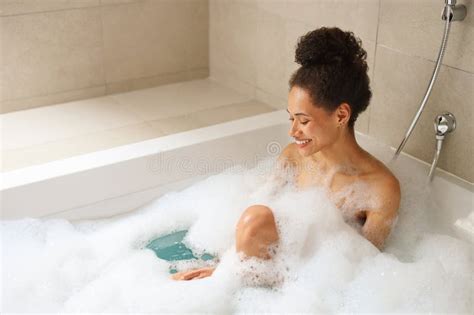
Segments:
[[[320,26],[361,37],[372,77],[378,0],[210,0],[209,9],[211,77],[276,108],[286,108],[298,37]],[[362,132],[369,113],[359,118]]]

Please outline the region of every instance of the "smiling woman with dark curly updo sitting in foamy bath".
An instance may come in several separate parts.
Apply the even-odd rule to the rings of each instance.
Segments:
[[[326,186],[345,218],[357,222],[361,234],[382,250],[397,218],[400,186],[354,136],[354,123],[372,96],[366,57],[360,40],[338,28],[320,28],[300,38],[295,59],[301,67],[289,81],[287,109],[289,135],[295,141],[278,160],[294,170],[298,187]],[[357,192],[337,198],[354,183],[364,185],[362,198],[370,199],[371,207],[356,202],[361,199]],[[253,205],[243,212],[236,226],[237,252],[271,259],[268,248],[278,240],[272,209]],[[201,279],[213,271],[183,271],[173,279]]]

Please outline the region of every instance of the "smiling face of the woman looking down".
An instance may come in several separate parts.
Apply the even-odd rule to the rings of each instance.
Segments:
[[[336,111],[328,113],[322,107],[313,105],[305,89],[294,86],[288,96],[290,130],[302,156],[310,156],[331,146],[340,134]]]

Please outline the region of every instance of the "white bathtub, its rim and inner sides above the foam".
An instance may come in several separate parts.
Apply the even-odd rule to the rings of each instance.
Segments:
[[[287,113],[276,111],[2,173],[1,218],[78,220],[127,213],[229,166],[251,167],[277,155],[290,141],[287,128]],[[374,152],[372,139],[357,138],[387,161],[391,152]],[[397,163],[428,174],[426,163],[408,155]],[[432,214],[435,229],[472,241],[455,228],[457,219],[472,212],[472,184],[439,171],[431,186],[438,205]]]

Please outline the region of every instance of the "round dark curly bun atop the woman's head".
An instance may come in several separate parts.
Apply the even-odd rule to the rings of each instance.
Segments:
[[[303,67],[325,64],[365,64],[367,53],[352,32],[322,27],[300,37],[295,61]]]

